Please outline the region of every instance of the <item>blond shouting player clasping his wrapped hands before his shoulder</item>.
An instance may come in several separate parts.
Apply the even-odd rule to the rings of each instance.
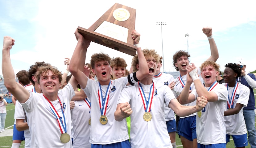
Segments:
[[[187,66],[187,82],[183,91],[180,94],[180,100],[186,103],[193,102],[196,97],[206,97],[208,104],[205,108],[197,112],[196,116],[196,136],[197,147],[207,148],[225,147],[225,123],[224,123],[224,108],[227,103],[228,92],[225,86],[220,85],[216,81],[216,76],[219,74],[219,65],[213,61],[205,61],[201,64],[201,77],[204,79],[205,87],[199,80],[196,66]],[[190,85],[194,82],[195,90],[189,94]]]

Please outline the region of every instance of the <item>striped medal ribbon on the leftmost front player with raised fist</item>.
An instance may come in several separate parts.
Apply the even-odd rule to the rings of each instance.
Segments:
[[[60,102],[60,106],[61,106],[61,112],[62,112],[62,116],[63,116],[63,119],[64,119],[64,124],[63,124],[63,121],[62,119],[60,118],[60,115],[58,114],[58,112],[56,111],[55,107],[52,105],[52,102],[43,95],[43,97],[49,102],[49,107],[51,108],[53,114],[55,115],[56,119],[57,119],[57,122],[59,123],[59,127],[60,127],[60,132],[61,134],[63,134],[64,132],[66,133],[67,132],[67,125],[66,125],[66,120],[65,120],[65,116],[64,116],[64,111],[63,111],[63,106],[61,104],[61,101],[60,101],[60,98],[58,96],[58,99],[59,99],[59,102]],[[60,124],[61,123],[61,124]],[[64,131],[64,132],[63,132]]]

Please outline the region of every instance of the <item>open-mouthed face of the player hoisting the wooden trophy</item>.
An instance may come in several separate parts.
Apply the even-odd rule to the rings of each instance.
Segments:
[[[98,61],[93,68],[93,74],[97,76],[101,85],[108,85],[110,81],[111,67],[108,61]]]

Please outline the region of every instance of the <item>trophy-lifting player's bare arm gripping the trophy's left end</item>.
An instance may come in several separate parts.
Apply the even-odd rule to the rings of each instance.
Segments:
[[[86,52],[90,45],[90,41],[85,40],[84,37],[77,31],[77,29],[75,31],[75,36],[78,42],[70,60],[69,70],[71,74],[76,78],[77,82],[81,85],[81,87],[85,88],[88,78],[84,74],[83,70],[85,66]]]

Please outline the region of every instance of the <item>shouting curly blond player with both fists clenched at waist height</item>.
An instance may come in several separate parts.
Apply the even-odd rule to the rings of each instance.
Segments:
[[[171,89],[163,83],[154,83],[156,64],[159,55],[155,50],[143,50],[149,73],[134,85],[125,87],[115,112],[115,120],[122,122],[131,116],[131,147],[171,148],[164,117],[164,104],[180,116],[200,111],[207,99],[198,98],[195,106],[182,106],[174,97]],[[133,58],[134,71],[140,70],[138,56]]]

